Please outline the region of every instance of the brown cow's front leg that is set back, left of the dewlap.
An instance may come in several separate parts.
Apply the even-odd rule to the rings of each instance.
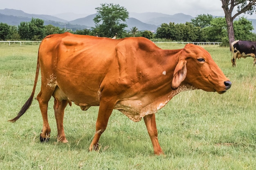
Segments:
[[[98,142],[101,134],[106,130],[108,125],[108,119],[113,111],[115,106],[115,102],[103,102],[101,100],[99,104],[99,113],[96,121],[96,132],[92,139],[92,143],[90,144],[89,150],[98,150]]]

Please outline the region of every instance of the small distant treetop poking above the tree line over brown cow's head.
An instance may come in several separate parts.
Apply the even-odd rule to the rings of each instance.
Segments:
[[[193,26],[198,26],[200,28],[205,28],[207,26],[210,26],[211,20],[213,19],[213,16],[210,14],[200,14],[197,15],[197,17],[191,19],[191,23]]]

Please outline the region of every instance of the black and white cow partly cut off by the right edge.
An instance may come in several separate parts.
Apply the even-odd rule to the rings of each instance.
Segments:
[[[256,41],[242,41],[236,40],[231,43],[232,54],[231,54],[231,62],[232,66],[236,66],[236,58],[240,59],[240,57],[253,57],[253,65],[256,63]]]

